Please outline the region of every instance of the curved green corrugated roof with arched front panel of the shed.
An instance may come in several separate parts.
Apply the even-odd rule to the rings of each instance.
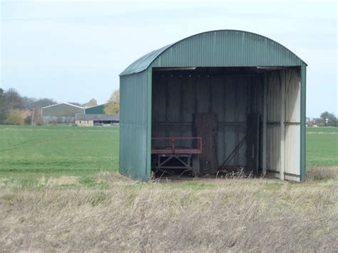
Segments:
[[[183,38],[151,51],[120,76],[149,67],[301,66],[307,65],[285,46],[257,33],[217,30]]]

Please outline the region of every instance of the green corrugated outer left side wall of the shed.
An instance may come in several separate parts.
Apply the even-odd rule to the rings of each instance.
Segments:
[[[120,78],[120,172],[148,180],[147,127],[148,75]]]

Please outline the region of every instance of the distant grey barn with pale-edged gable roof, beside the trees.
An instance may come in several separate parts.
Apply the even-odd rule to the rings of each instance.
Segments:
[[[85,113],[85,108],[70,103],[48,105],[41,109],[44,123],[74,123],[76,113]]]

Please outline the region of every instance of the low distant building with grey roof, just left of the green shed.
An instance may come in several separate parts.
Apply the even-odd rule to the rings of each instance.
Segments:
[[[75,124],[83,127],[111,126],[120,122],[118,114],[76,114]]]

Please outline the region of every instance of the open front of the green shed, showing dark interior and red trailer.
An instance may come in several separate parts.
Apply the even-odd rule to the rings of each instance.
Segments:
[[[154,172],[285,173],[281,148],[299,138],[288,128],[299,128],[299,68],[153,68],[152,82]]]

